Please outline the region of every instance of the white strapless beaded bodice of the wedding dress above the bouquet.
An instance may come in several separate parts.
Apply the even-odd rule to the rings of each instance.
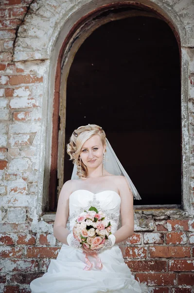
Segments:
[[[112,190],[104,190],[98,193],[92,193],[85,189],[73,191],[69,198],[69,230],[72,232],[75,219],[91,206],[106,214],[112,225],[111,232],[114,233],[120,220],[121,197],[116,191]]]

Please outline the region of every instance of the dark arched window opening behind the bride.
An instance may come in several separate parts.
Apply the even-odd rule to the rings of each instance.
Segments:
[[[97,124],[141,200],[181,204],[180,62],[171,28],[153,17],[108,22],[81,45],[67,82],[66,141]],[[65,152],[64,182],[72,162]]]

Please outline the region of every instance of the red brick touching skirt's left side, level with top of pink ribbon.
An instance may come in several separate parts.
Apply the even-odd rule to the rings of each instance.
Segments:
[[[53,257],[56,258],[60,248],[58,247],[30,247],[27,248],[26,257]]]

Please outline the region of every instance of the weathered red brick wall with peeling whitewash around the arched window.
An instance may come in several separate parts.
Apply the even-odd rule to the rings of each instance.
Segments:
[[[89,2],[88,0],[84,3]],[[184,4],[184,1],[178,2],[180,6],[172,6],[173,1],[170,0],[161,1],[161,5],[164,10],[168,6],[173,14],[182,17],[188,32],[185,37],[188,42],[183,43],[187,49],[183,55],[184,58],[188,56],[190,64],[187,95],[191,118],[192,156],[194,36],[190,25],[192,21],[189,21],[188,15],[191,11],[193,13],[193,6]],[[44,83],[49,80],[48,43],[56,29],[56,21],[62,19],[63,15],[61,6],[55,2],[52,6],[52,1],[42,1],[41,7],[38,1],[29,0],[3,0],[1,3],[0,292],[28,293],[29,283],[46,272],[50,259],[56,258],[61,246],[53,237],[53,215],[43,215],[37,210],[41,209],[40,153],[41,149],[45,149],[41,142],[41,131],[44,129],[42,121],[45,119],[42,114],[46,91]],[[68,9],[76,10],[82,6],[80,2],[80,6],[77,4],[71,8],[74,4],[74,1],[61,0],[66,18],[68,13],[70,14]],[[29,8],[32,9],[32,14]],[[36,19],[33,19],[34,15]],[[44,15],[47,19],[45,18],[45,24],[42,24]],[[50,25],[48,19],[51,21]],[[32,27],[32,23],[37,25]],[[46,32],[45,39],[48,39],[48,43],[42,32]],[[190,201],[194,202],[192,157],[190,163]],[[191,210],[191,214],[188,210]],[[192,211],[192,206],[189,206],[187,211],[163,208],[137,211],[140,227],[135,227],[135,233],[128,239],[126,263],[136,279],[139,277],[140,281],[148,282],[151,293],[194,293]]]

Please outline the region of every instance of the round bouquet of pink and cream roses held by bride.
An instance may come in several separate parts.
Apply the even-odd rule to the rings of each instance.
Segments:
[[[84,210],[76,219],[72,229],[74,238],[84,248],[97,251],[101,249],[111,233],[111,224],[106,215],[95,207]]]

